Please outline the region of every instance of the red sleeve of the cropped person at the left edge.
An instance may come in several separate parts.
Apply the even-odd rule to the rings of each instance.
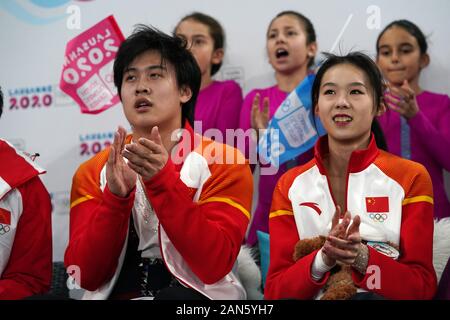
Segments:
[[[22,196],[23,212],[8,264],[0,278],[0,300],[46,293],[52,276],[49,194],[39,177],[17,189]]]

